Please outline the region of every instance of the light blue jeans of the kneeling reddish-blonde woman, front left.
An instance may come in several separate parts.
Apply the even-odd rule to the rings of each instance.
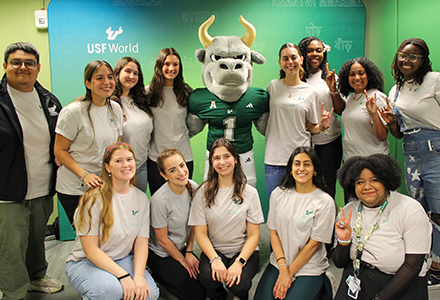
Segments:
[[[121,268],[134,276],[133,255],[116,260]],[[83,299],[96,300],[120,300],[124,297],[122,285],[113,274],[95,266],[90,260],[68,261],[66,266],[66,276],[70,285],[83,296]],[[159,288],[145,270],[145,279],[151,291],[151,300],[159,298]]]

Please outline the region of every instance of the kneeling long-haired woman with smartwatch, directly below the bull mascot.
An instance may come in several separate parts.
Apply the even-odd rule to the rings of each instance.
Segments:
[[[260,263],[263,222],[258,192],[246,183],[234,145],[225,138],[214,141],[208,179],[197,189],[188,220],[202,249],[199,280],[210,299],[226,299],[223,283],[248,299]]]

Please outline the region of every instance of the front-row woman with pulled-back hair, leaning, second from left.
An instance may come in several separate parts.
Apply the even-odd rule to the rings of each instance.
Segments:
[[[194,228],[187,225],[197,184],[179,150],[168,148],[157,157],[167,181],[151,197],[151,239],[148,266],[154,279],[181,300],[204,300],[197,277],[199,260],[193,253]],[[186,243],[186,245],[185,245]]]

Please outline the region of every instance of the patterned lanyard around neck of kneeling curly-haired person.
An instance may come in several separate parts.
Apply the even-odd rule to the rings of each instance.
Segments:
[[[356,248],[356,259],[353,261],[353,274],[354,274],[354,277],[356,277],[356,278],[359,276],[359,269],[360,269],[360,265],[361,265],[361,256],[362,256],[362,252],[364,251],[364,246],[367,243],[367,241],[370,238],[373,231],[376,230],[376,228],[379,226],[380,216],[382,215],[383,211],[387,207],[389,199],[390,199],[390,195],[388,195],[387,199],[380,207],[380,210],[377,213],[376,221],[374,222],[373,226],[371,226],[370,230],[368,230],[368,232],[365,235],[363,240],[362,240],[362,236],[361,236],[361,232],[362,232],[361,220],[362,220],[363,204],[362,204],[362,201],[359,203],[358,213],[356,216],[356,226],[354,228],[354,231],[356,232],[357,241],[358,241],[358,246]]]

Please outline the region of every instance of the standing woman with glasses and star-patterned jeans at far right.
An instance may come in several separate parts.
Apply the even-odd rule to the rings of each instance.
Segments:
[[[440,73],[432,72],[422,39],[404,40],[392,63],[396,84],[383,110],[391,133],[403,137],[408,194],[426,212],[440,213]],[[391,109],[393,107],[393,109]],[[440,283],[440,232],[433,230],[430,284]]]

